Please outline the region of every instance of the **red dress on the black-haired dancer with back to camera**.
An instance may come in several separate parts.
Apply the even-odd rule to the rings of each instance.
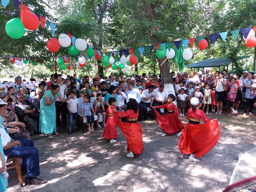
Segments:
[[[143,152],[142,129],[138,122],[129,123],[128,119],[138,119],[138,115],[138,111],[137,113],[134,113],[134,111],[131,109],[125,112],[117,111],[115,115],[116,123],[126,137],[127,150],[130,152],[131,148],[132,152],[134,152],[136,155],[140,155]],[[118,117],[126,117],[126,123],[120,121]]]

